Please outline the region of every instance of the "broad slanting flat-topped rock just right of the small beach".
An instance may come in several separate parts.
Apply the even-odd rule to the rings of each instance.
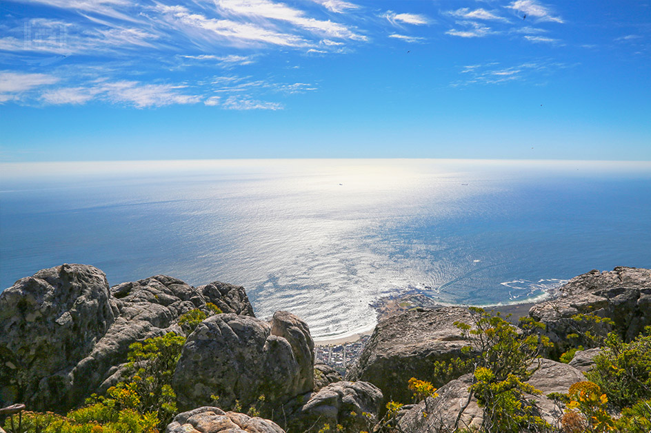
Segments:
[[[441,386],[432,363],[458,357],[467,346],[455,321],[472,323],[468,309],[419,308],[380,321],[346,379],[373,383],[385,401],[409,401],[412,392],[407,387],[412,377]]]

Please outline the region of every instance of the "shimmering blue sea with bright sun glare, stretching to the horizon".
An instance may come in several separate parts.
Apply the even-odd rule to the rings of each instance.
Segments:
[[[201,160],[0,166],[0,288],[92,264],[110,284],[239,284],[317,339],[372,304],[544,297],[593,268],[651,267],[651,162]]]

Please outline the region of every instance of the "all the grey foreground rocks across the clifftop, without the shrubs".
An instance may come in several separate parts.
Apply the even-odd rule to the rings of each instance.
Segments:
[[[529,314],[546,325],[556,351],[563,350],[577,313],[611,317],[614,330],[628,339],[651,324],[648,269],[590,271],[555,295]],[[470,321],[466,308],[417,308],[380,321],[343,380],[332,368],[314,365],[308,324],[283,311],[271,321],[257,319],[242,287],[193,287],[165,275],[110,287],[103,272],[81,264],[44,269],[0,294],[0,408],[25,403],[30,410],[64,413],[83,405],[90,394],[123,379],[132,343],[180,335],[179,317],[207,304],[223,314],[205,319],[185,341],[171,381],[185,412],[168,433],[316,432],[326,423],[359,432],[368,428],[364,413],[377,417],[388,401],[410,400],[411,377],[441,388],[436,399],[403,408],[404,432],[429,431],[421,416],[425,407],[450,431],[459,420],[481,424],[482,410],[468,393],[470,377],[440,383],[432,372],[435,361],[461,353],[464,341],[454,322]],[[543,391],[532,396],[543,419],[558,419],[562,410],[545,394],[567,392],[581,381],[598,351],[577,352],[569,364],[538,361],[529,382]],[[254,405],[262,394],[273,421],[221,409]]]

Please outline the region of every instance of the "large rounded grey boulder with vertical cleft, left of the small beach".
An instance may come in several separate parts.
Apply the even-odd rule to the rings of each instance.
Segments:
[[[277,312],[272,321],[223,314],[204,320],[188,336],[172,387],[181,408],[219,396],[222,407],[243,407],[261,395],[270,405],[312,390],[314,341],[298,317]]]

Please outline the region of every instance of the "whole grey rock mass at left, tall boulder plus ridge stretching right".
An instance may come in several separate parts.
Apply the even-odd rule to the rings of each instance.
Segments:
[[[228,284],[194,288],[156,275],[109,288],[103,272],[81,264],[20,279],[0,293],[0,405],[79,405],[119,379],[130,344],[180,332],[179,315],[207,302],[252,314],[243,288]]]

